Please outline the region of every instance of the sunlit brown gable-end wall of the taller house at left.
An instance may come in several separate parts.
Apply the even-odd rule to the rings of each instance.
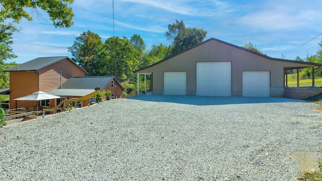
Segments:
[[[39,70],[39,90],[46,92],[58,88],[60,86],[60,71],[61,83],[71,76],[85,76],[82,69],[68,59],[64,59]]]

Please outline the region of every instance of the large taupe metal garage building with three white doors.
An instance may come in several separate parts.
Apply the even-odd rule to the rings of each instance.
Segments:
[[[151,76],[153,95],[283,97],[287,70],[314,71],[320,66],[272,58],[210,38],[134,72],[137,79],[140,74]]]

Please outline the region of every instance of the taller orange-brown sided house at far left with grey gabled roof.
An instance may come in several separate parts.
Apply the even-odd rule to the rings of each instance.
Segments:
[[[34,101],[18,101],[16,107],[14,100],[37,91],[51,91],[72,76],[88,74],[66,56],[36,58],[5,71],[10,72],[10,109],[33,107]]]

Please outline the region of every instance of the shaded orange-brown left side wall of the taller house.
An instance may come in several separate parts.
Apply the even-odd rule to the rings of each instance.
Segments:
[[[16,108],[16,101],[14,99],[38,91],[38,75],[33,71],[11,71],[10,80],[10,109]],[[17,101],[17,108],[33,106],[36,106],[35,101]]]

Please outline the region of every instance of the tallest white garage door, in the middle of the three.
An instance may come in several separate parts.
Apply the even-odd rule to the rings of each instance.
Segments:
[[[198,62],[197,96],[231,96],[231,62]]]

